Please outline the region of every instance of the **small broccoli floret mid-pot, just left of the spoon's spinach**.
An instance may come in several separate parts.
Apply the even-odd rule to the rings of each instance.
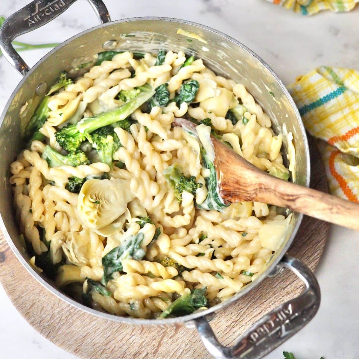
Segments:
[[[174,189],[174,195],[179,202],[182,201],[182,192],[186,191],[195,195],[197,188],[202,187],[202,183],[196,183],[194,176],[186,177],[178,164],[173,164],[164,169],[163,176]]]

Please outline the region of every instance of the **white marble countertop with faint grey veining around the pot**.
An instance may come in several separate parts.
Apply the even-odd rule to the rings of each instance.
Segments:
[[[1,0],[0,14],[8,16],[29,0]],[[256,52],[285,84],[318,65],[358,68],[359,6],[347,14],[294,14],[262,0],[105,0],[113,20],[137,16],[188,19],[229,34]],[[21,40],[61,42],[97,24],[85,0]],[[22,52],[34,65],[46,50]],[[2,111],[20,75],[0,58]],[[359,233],[331,226],[327,245],[316,271],[322,303],[316,317],[297,335],[267,356],[283,358],[293,351],[298,359],[358,358],[359,355]],[[39,335],[15,310],[0,285],[1,357],[73,359],[75,356]],[[195,334],[194,334],[195,335]],[[187,359],[187,358],[186,358]]]

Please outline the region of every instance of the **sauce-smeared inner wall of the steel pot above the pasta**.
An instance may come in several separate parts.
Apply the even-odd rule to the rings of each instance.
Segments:
[[[199,34],[206,42],[177,34],[179,28]],[[126,37],[126,34],[135,36]],[[274,131],[278,133],[283,125],[286,125],[288,132],[293,133],[296,149],[295,181],[306,185],[309,164],[307,163],[303,126],[298,121],[297,112],[293,109],[282,85],[258,58],[245,48],[238,46],[234,41],[194,24],[179,23],[171,19],[121,20],[90,29],[50,52],[22,80],[13,94],[12,101],[9,101],[4,110],[0,128],[0,147],[2,149],[0,175],[3,178],[3,181],[0,182],[0,212],[6,230],[24,258],[26,258],[26,254],[21,250],[18,240],[19,230],[15,220],[13,196],[9,184],[9,166],[24,145],[20,136],[20,108],[28,99],[35,96],[39,84],[46,82],[47,85],[51,85],[60,71],[70,70],[83,62],[92,60],[96,53],[104,51],[103,44],[108,40],[117,42],[112,50],[153,53],[157,53],[159,49],[174,52],[182,50],[187,55],[194,54],[201,57],[216,74],[244,84],[270,116]],[[31,113],[27,118],[29,116]],[[284,137],[284,153],[287,148],[287,139]],[[291,228],[277,255],[283,255],[298,218],[298,215],[294,214],[290,224]]]

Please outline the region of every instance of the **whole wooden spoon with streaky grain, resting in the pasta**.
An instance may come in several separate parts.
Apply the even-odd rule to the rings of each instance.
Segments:
[[[176,119],[175,124],[195,129],[187,120]],[[225,202],[267,203],[359,230],[359,204],[271,176],[215,137],[211,140],[219,194]]]

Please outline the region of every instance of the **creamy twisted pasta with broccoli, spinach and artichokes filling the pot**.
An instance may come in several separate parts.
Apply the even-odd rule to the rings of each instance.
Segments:
[[[119,316],[179,316],[232,297],[265,269],[291,215],[225,204],[210,134],[288,180],[270,118],[201,59],[108,51],[75,82],[62,73],[10,166],[31,264]]]

